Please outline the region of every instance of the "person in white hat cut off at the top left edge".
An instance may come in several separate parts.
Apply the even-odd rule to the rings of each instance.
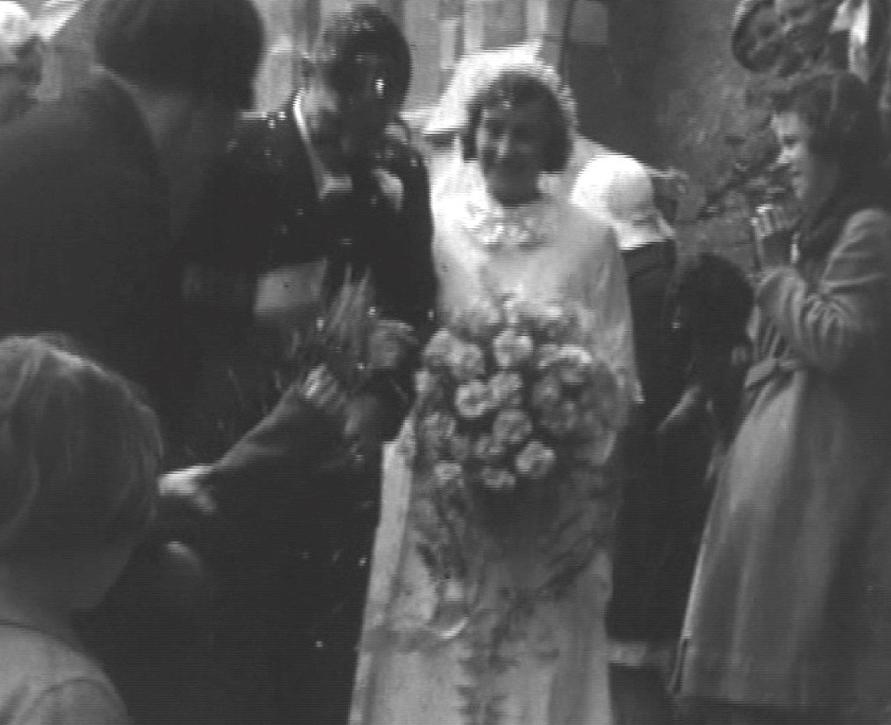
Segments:
[[[43,43],[28,11],[12,0],[0,2],[0,126],[34,104],[43,62]]]

